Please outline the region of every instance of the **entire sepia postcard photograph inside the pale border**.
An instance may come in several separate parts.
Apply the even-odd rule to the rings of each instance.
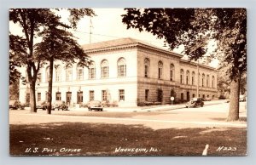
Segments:
[[[247,156],[247,9],[9,9],[9,156]]]

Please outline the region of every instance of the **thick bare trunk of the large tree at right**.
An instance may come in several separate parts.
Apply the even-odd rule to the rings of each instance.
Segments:
[[[227,121],[239,120],[240,77],[230,83],[230,111]]]

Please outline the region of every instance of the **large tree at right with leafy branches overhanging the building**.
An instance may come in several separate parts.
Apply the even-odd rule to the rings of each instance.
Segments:
[[[246,9],[125,9],[123,23],[164,38],[171,50],[184,46],[189,60],[207,53],[207,44],[218,43],[214,56],[230,78],[228,121],[239,119],[239,85],[246,72]],[[212,55],[213,56],[213,55]]]

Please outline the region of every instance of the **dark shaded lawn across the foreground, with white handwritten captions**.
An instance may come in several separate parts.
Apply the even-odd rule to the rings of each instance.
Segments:
[[[246,128],[167,128],[53,122],[10,125],[12,156],[209,156],[247,154]],[[236,151],[219,147],[236,147]]]

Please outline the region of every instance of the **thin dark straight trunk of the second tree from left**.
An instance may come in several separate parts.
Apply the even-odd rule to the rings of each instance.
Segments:
[[[53,77],[53,65],[54,65],[54,57],[51,56],[49,59],[49,86],[48,86],[48,106],[47,112],[51,114],[51,96],[52,96],[52,77]]]

